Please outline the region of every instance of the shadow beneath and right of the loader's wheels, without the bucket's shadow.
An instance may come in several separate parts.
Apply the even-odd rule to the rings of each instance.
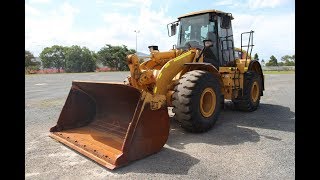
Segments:
[[[294,132],[295,113],[290,111],[288,107],[272,104],[260,104],[260,107],[254,112],[241,112],[234,110],[232,103],[226,103],[226,107],[221,112],[213,129],[205,133],[186,132],[172,119],[167,145],[177,149],[185,149],[185,145],[190,143],[224,146],[258,142],[262,135],[251,129],[252,127]],[[263,137],[281,141],[277,137]]]

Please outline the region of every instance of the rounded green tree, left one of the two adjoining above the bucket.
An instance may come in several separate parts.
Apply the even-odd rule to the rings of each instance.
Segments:
[[[52,47],[46,47],[40,53],[42,65],[45,68],[57,68],[60,72],[60,68],[65,69],[66,66],[66,51],[68,47],[54,45]]]

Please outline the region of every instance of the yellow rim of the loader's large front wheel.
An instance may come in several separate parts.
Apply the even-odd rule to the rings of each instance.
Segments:
[[[216,93],[212,88],[206,88],[200,97],[200,111],[204,117],[210,117],[216,108]]]

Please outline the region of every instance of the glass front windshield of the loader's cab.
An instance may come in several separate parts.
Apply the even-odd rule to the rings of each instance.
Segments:
[[[203,46],[209,39],[208,32],[214,32],[214,22],[209,22],[209,14],[181,18],[177,48]]]

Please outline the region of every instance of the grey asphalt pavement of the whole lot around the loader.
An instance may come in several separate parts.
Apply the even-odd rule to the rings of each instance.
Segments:
[[[128,72],[25,76],[26,179],[295,179],[295,75],[265,75],[258,110],[227,102],[214,128],[184,131],[171,121],[154,155],[108,170],[50,138],[72,80],[122,82]]]

